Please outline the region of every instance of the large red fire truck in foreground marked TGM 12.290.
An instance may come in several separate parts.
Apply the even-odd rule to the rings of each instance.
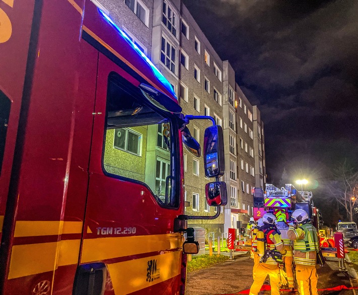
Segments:
[[[0,294],[184,294],[192,119],[90,0],[0,1]],[[225,205],[221,127],[203,154]]]

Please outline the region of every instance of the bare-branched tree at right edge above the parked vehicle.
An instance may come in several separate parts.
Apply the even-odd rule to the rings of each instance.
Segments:
[[[347,219],[353,221],[353,214],[356,213],[354,206],[358,205],[358,171],[344,161],[334,169],[333,179],[328,182],[327,189],[330,197],[344,208]]]

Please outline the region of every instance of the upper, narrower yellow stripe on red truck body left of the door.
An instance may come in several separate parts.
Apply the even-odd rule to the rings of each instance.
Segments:
[[[82,221],[16,221],[14,237],[81,233]]]

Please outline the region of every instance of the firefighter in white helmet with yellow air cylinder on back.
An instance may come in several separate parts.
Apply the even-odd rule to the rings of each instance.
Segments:
[[[260,231],[263,231],[265,234],[264,241],[258,240],[258,249],[262,248],[261,243],[265,243],[265,256],[263,256],[260,263],[257,266],[255,279],[250,288],[250,295],[258,295],[262,284],[264,283],[266,276],[270,276],[270,285],[271,285],[271,294],[279,295],[279,284],[280,284],[280,270],[278,267],[278,262],[275,260],[277,258],[277,251],[282,255],[286,254],[284,250],[283,242],[280,239],[280,235],[277,233],[277,228],[275,226],[276,216],[271,213],[266,213],[262,220],[264,225],[261,226]],[[258,237],[257,237],[258,238]],[[279,254],[278,253],[278,254]],[[259,255],[260,254],[259,252]]]

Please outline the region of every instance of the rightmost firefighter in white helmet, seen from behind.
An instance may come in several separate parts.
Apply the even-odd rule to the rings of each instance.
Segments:
[[[317,229],[310,223],[309,215],[303,209],[294,210],[291,217],[293,225],[289,226],[287,236],[293,241],[298,289],[300,295],[317,295]]]

